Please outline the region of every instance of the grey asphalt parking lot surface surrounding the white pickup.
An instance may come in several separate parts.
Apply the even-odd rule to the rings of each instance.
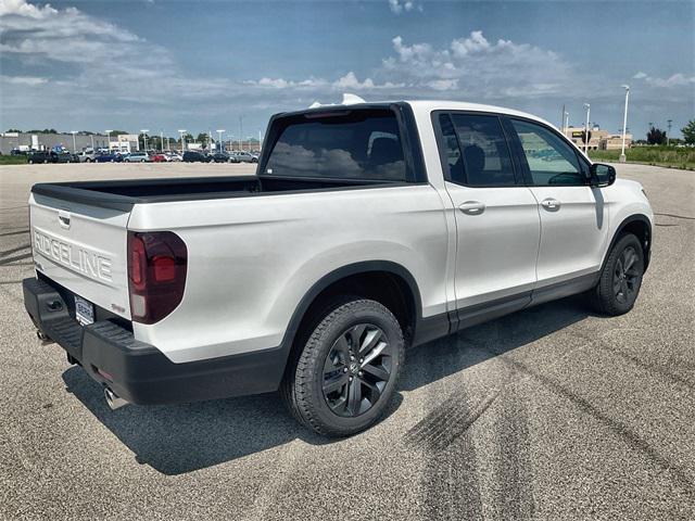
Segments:
[[[0,518],[695,518],[693,171],[617,165],[657,213],[632,313],[571,297],[412,350],[357,436],[308,433],[275,394],[111,411],[24,312],[30,185],[254,166],[0,167]]]

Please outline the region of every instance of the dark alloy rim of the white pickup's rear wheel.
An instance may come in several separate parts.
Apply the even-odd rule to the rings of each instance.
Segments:
[[[331,346],[323,371],[324,398],[331,411],[354,418],[377,403],[392,373],[392,346],[371,323],[343,331]]]

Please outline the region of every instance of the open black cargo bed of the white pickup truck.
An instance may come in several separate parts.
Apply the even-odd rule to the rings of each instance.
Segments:
[[[135,204],[144,203],[226,199],[271,192],[334,190],[379,185],[393,183],[365,179],[299,179],[271,176],[188,177],[38,183],[31,188],[31,192],[63,201],[127,212]]]

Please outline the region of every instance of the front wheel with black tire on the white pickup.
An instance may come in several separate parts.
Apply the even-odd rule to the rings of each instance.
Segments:
[[[627,266],[627,268],[626,268]],[[594,308],[604,315],[624,315],[634,306],[644,275],[644,251],[632,233],[618,239],[591,292]]]

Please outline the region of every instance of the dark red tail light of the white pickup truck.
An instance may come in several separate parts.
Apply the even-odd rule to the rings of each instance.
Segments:
[[[128,232],[128,289],[132,320],[154,323],[184,297],[188,251],[172,231]]]

